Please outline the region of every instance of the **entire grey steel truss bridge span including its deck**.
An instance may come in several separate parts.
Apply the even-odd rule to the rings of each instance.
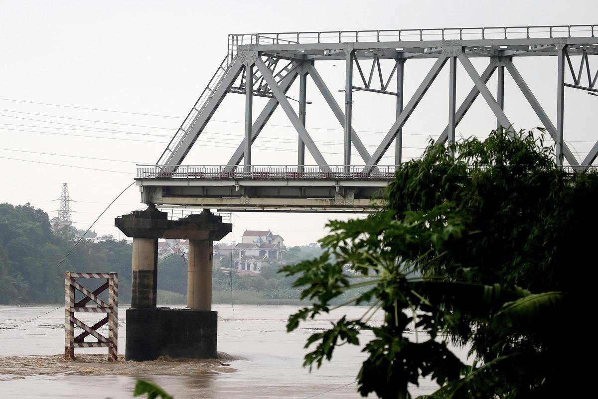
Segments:
[[[455,127],[480,96],[492,109],[497,126],[511,126],[503,111],[506,70],[556,143],[557,165],[563,165],[564,160],[569,167],[584,169],[596,159],[598,142],[581,163],[575,159],[563,141],[564,93],[565,88],[598,93],[598,68],[594,62],[597,55],[598,25],[229,35],[227,55],[156,165],[138,166],[136,180],[142,202],[264,211],[359,212],[371,209],[371,204],[376,208],[382,203],[380,189],[386,187],[395,165],[402,161],[402,127],[447,63],[449,123],[437,142],[454,142]],[[557,87],[556,115],[549,116],[527,86],[515,66],[517,57],[556,58],[552,83]],[[481,74],[472,65],[471,58],[488,60]],[[404,101],[404,65],[407,60],[416,59],[434,59],[435,62],[413,96]],[[316,68],[319,62],[329,60],[346,63],[344,109]],[[473,84],[459,106],[455,96],[457,62],[465,68]],[[383,73],[383,63],[392,63],[390,73]],[[487,82],[495,73],[498,87],[490,90]],[[344,129],[343,165],[328,165],[305,127],[307,77],[315,83]],[[298,114],[286,96],[297,78]],[[355,91],[396,97],[395,122],[373,153],[365,148],[352,128]],[[245,95],[243,141],[225,165],[181,165],[228,93]],[[257,116],[253,112],[255,96],[269,99]],[[278,106],[298,135],[297,165],[252,165],[252,143]],[[395,165],[379,165],[393,142]],[[352,145],[361,158],[361,166],[352,163]],[[317,165],[304,165],[306,148]],[[373,197],[377,199],[371,202]]]

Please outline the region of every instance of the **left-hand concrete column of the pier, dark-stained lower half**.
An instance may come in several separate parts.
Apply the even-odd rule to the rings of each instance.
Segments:
[[[133,237],[131,308],[155,308],[158,290],[158,239]]]

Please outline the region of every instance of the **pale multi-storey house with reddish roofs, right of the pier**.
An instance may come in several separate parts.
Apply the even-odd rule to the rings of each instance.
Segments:
[[[241,242],[233,246],[234,269],[239,274],[258,275],[264,265],[284,263],[284,241],[270,230],[245,230]]]

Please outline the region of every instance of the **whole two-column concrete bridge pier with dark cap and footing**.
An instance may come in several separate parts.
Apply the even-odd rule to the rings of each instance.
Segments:
[[[126,360],[215,358],[218,322],[212,312],[212,248],[232,231],[230,223],[209,209],[168,220],[154,205],[115,219],[133,237],[132,299],[127,309]],[[188,309],[156,307],[158,238],[188,239]],[[184,276],[181,276],[184,278]]]

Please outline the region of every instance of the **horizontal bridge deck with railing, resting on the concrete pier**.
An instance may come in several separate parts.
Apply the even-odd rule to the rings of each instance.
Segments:
[[[236,210],[367,212],[396,166],[139,166],[142,202]]]

